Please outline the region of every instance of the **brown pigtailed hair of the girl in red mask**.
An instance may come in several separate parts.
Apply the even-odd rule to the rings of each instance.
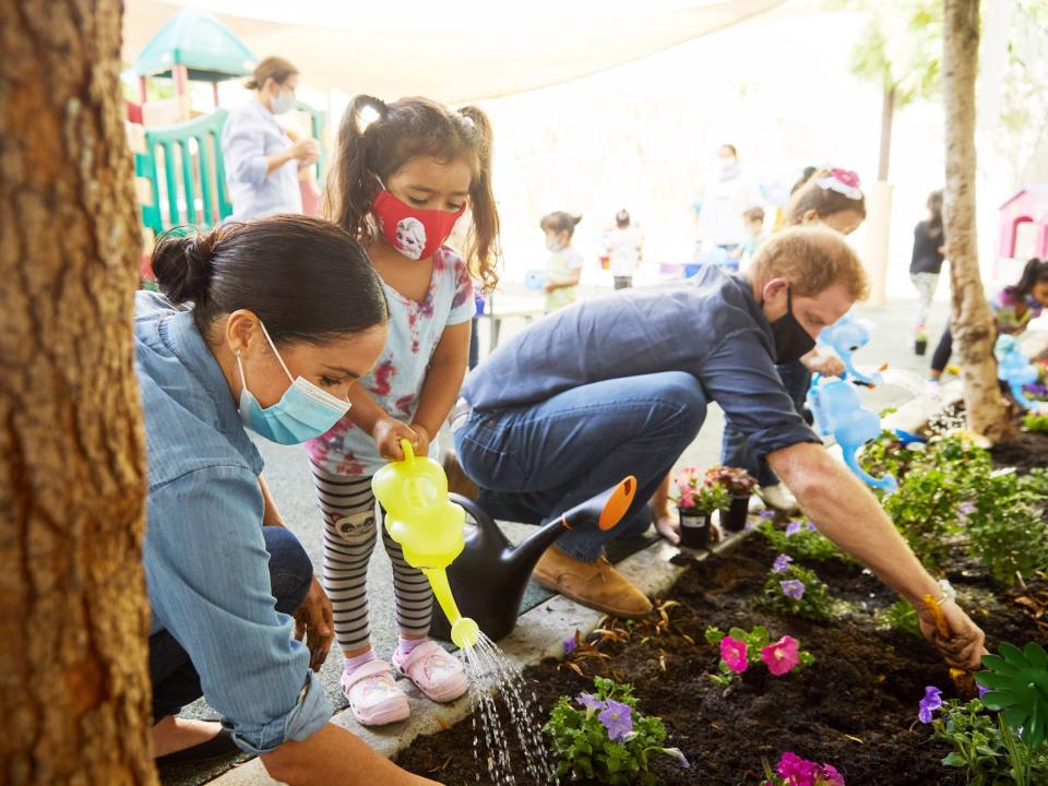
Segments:
[[[374,119],[365,124],[364,111]],[[386,104],[358,95],[342,116],[337,156],[327,177],[324,211],[329,218],[369,246],[374,239],[371,203],[390,177],[412,158],[465,160],[473,168],[469,214],[473,217],[465,259],[469,273],[486,291],[495,289],[499,248],[499,213],[491,191],[491,123],[473,106],[452,111],[428,98]]]

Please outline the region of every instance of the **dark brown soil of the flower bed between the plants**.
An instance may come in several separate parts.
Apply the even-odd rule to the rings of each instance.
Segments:
[[[1026,434],[1017,451],[995,455],[998,466],[1000,458],[1044,466],[1048,437]],[[826,621],[772,612],[755,599],[777,553],[764,537],[750,537],[730,553],[692,565],[648,619],[611,620],[607,632],[591,636],[593,651],[582,646],[564,660],[527,669],[543,722],[559,696],[590,691],[594,676],[608,676],[634,686],[639,710],[662,717],[665,745],[680,748],[691,762],[681,770],[672,759],[656,758],[654,771],[668,784],[755,786],[762,782],[762,760],[774,764],[784,751],[832,762],[849,786],[965,783],[963,772],[941,764],[950,747],[933,740],[931,727],[917,719],[926,686],[942,688],[944,699],[958,694],[922,639],[883,624],[878,612],[896,596],[855,562],[798,559],[796,564],[815,570],[847,610]],[[991,650],[1001,642],[1048,644],[1043,575],[1025,587],[1008,587],[960,549],[946,573]],[[781,678],[750,668],[727,689],[713,681],[720,654],[705,641],[706,629],[757,624],[766,626],[773,639],[795,636],[817,663]],[[564,631],[565,638],[571,633]],[[397,762],[444,784],[477,783],[473,738],[467,718],[416,740]],[[522,775],[523,766],[515,772],[519,784],[534,783]]]

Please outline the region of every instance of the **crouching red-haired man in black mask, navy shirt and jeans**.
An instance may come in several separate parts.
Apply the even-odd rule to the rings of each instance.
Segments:
[[[917,561],[870,490],[826,452],[775,371],[811,352],[868,286],[843,235],[797,227],[769,239],[746,276],[707,265],[684,285],[623,289],[561,309],[466,377],[451,424],[461,468],[489,513],[534,523],[634,475],[622,521],[607,532],[596,522],[572,527],[543,555],[535,579],[593,608],[642,616],[651,603],[604,559],[603,546],[650,526],[642,509],[715,401],[814,525],[913,604],[950,663],[975,668],[982,632]],[[659,532],[674,540],[674,527],[662,523]],[[936,630],[929,594],[943,604],[946,635]]]

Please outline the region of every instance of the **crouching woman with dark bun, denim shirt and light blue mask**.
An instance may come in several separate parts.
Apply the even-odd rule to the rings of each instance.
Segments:
[[[164,295],[138,293],[134,335],[158,763],[239,748],[289,784],[432,784],[327,723],[310,668],[331,645],[331,604],[247,432],[296,444],[345,415],[386,338],[367,254],[332,224],[276,216],[164,238],[153,270]],[[177,717],[201,695],[222,727]]]

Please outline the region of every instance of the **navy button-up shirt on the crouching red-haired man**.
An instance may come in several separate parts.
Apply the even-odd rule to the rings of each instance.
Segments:
[[[783,388],[774,354],[750,284],[707,265],[684,284],[623,289],[545,317],[471,371],[462,395],[485,412],[592,382],[686,371],[764,456],[821,441]]]

